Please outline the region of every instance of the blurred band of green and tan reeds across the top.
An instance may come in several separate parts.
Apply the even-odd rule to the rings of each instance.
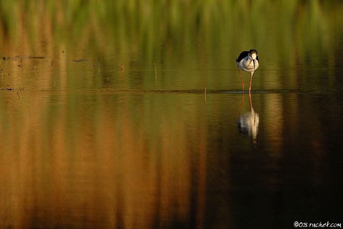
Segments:
[[[336,56],[343,52],[339,39],[336,39],[341,37],[339,31],[343,30],[343,24],[340,23],[342,3],[337,1],[325,4],[300,0],[292,1],[292,4],[274,1],[252,4],[247,1],[202,1],[199,4],[197,1],[181,0],[144,4],[133,4],[132,1],[23,2],[0,1],[0,34],[3,42],[0,53],[5,56],[8,56],[9,47],[13,44],[24,47],[19,49],[23,53],[15,54],[41,52],[43,49],[40,50],[37,42],[44,43],[48,39],[53,42],[48,42],[48,48],[44,50],[53,56],[57,55],[53,53],[55,50],[63,50],[62,61],[65,64],[65,52],[70,50],[69,53],[78,55],[87,53],[90,56],[113,56],[114,59],[120,59],[127,53],[133,57],[144,53],[141,60],[143,66],[155,60],[154,53],[163,53],[164,56],[170,56],[163,63],[166,69],[173,68],[177,63],[187,63],[190,68],[215,65],[217,69],[227,69],[234,68],[235,63],[223,60],[231,60],[239,51],[247,48],[236,39],[238,27],[239,37],[247,39],[245,44],[258,48],[264,60],[273,59],[276,65],[271,66],[273,68],[277,65],[296,68],[299,62],[317,64],[317,59],[308,59],[304,53],[316,55],[321,50],[325,56]],[[247,7],[247,4],[252,7]],[[35,9],[42,10],[37,12]],[[235,23],[240,21],[242,15],[246,20]],[[24,21],[23,18],[31,20]],[[258,18],[258,23],[255,18]],[[6,25],[6,30],[3,25]],[[207,39],[209,34],[212,35],[211,39]],[[173,45],[171,40],[177,40],[178,43]],[[264,45],[265,41],[268,41],[268,46]],[[129,45],[124,45],[127,43]],[[59,46],[64,47],[61,49]],[[313,49],[314,46],[319,48]],[[282,55],[275,55],[275,50]],[[206,61],[202,56],[207,56]],[[98,73],[100,65],[112,65],[111,61],[101,59]],[[329,64],[332,65],[331,62]],[[186,80],[188,85],[196,83],[194,78]],[[269,78],[268,82],[277,83],[280,80],[274,77]],[[297,81],[294,79],[288,83],[296,84]]]

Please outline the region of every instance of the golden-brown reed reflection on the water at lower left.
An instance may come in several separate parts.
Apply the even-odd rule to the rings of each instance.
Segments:
[[[161,110],[164,96],[52,91],[7,100],[14,110],[0,116],[1,226],[188,223],[192,169],[201,191],[196,212],[204,208],[206,133],[190,141],[192,114],[184,116],[182,102],[173,115]],[[151,112],[144,101],[155,103]],[[190,130],[179,128],[185,122]]]

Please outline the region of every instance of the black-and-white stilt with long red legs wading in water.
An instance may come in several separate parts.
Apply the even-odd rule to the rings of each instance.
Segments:
[[[252,88],[252,79],[254,72],[256,69],[259,67],[259,58],[257,56],[257,51],[256,49],[250,49],[249,51],[242,51],[238,58],[236,59],[237,62],[237,67],[238,67],[238,72],[240,76],[240,80],[242,81],[242,91],[244,93],[244,85],[243,85],[243,80],[242,80],[242,75],[240,74],[239,67],[246,72],[251,73],[250,77],[250,87],[249,87],[249,93]]]

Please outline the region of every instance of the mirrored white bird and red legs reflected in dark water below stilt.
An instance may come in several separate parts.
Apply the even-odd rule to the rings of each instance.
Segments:
[[[240,133],[248,135],[249,137],[253,139],[253,142],[256,143],[260,118],[259,118],[259,114],[256,113],[253,108],[252,97],[250,93],[249,93],[249,98],[250,98],[251,111],[243,113],[241,115],[240,112],[241,112],[243,100],[244,100],[244,92],[242,93],[242,102],[239,108],[237,126]]]

